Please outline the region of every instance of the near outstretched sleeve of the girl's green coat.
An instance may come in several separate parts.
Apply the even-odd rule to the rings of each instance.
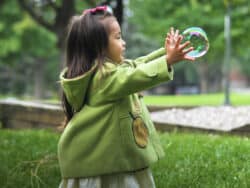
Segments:
[[[148,63],[141,63],[136,67],[130,63],[122,65],[106,63],[106,69],[102,79],[99,79],[99,87],[94,94],[105,100],[116,100],[173,79],[173,70],[168,72],[165,56],[151,61],[151,57],[147,58],[145,62]],[[95,83],[97,82],[95,80]]]

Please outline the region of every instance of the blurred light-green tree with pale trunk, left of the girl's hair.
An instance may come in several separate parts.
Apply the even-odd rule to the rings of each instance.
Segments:
[[[50,83],[46,76],[48,64],[59,65],[55,61],[55,57],[58,55],[58,50],[54,47],[56,37],[53,33],[37,25],[27,14],[22,21],[15,24],[14,28],[20,35],[21,63],[24,66],[28,64],[26,69],[30,70],[29,76],[33,78],[31,80],[34,82],[34,97],[36,99],[44,98],[47,90],[45,83]]]

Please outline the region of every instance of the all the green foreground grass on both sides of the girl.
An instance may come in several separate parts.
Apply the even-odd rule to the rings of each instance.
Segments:
[[[59,135],[0,130],[1,188],[58,187]],[[200,133],[160,135],[166,156],[152,166],[157,188],[250,187],[250,140]]]

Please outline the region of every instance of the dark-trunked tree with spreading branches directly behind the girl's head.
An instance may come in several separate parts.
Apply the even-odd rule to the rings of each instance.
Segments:
[[[81,11],[88,6],[96,6],[98,3],[110,4],[111,0],[104,2],[95,0],[47,0],[41,7],[36,7],[35,4],[32,5],[30,1],[27,0],[18,0],[18,2],[38,24],[56,35],[57,47],[61,51],[61,62],[63,62],[64,41],[70,18],[77,13],[81,13]],[[116,0],[115,2],[116,7],[114,8],[114,13],[117,16],[118,21],[122,22],[122,0]]]

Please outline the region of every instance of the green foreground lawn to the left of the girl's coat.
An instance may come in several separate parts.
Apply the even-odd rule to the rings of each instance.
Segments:
[[[0,130],[1,188],[54,188],[60,181],[58,135],[45,130]]]

